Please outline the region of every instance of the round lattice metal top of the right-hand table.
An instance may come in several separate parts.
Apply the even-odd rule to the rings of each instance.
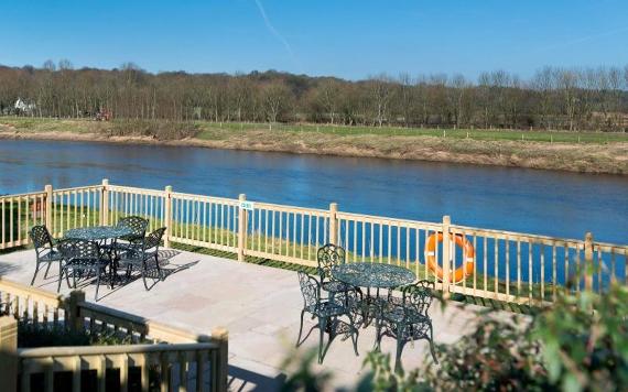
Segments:
[[[414,273],[403,266],[355,262],[336,265],[332,275],[340,282],[360,287],[392,288],[414,282]]]

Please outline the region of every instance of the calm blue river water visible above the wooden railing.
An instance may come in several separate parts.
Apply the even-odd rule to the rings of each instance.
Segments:
[[[450,163],[0,140],[0,194],[98,184],[628,242],[628,177]]]

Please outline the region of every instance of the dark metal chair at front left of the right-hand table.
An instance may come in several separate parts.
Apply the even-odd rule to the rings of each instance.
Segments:
[[[318,363],[323,362],[325,353],[334,338],[338,335],[344,335],[346,340],[349,336],[354,344],[354,351],[358,355],[358,328],[355,326],[354,316],[351,315],[351,305],[357,302],[356,292],[345,292],[339,294],[333,300],[324,300],[321,297],[321,284],[316,277],[307,274],[306,272],[299,271],[299,283],[301,285],[301,294],[303,295],[303,309],[301,311],[301,326],[299,327],[299,337],[296,338],[296,347],[301,341],[303,333],[303,317],[305,313],[310,313],[312,317],[318,318],[318,324],[315,326],[320,329],[318,340]],[[349,296],[348,298],[343,297]],[[347,305],[349,304],[349,305]],[[339,320],[338,317],[347,316],[349,323]],[[325,333],[329,335],[327,345],[323,345]],[[310,335],[310,334],[308,334]]]

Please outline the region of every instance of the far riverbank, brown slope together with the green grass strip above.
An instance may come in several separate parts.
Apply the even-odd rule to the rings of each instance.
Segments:
[[[628,174],[628,134],[0,118],[0,138],[163,143]]]

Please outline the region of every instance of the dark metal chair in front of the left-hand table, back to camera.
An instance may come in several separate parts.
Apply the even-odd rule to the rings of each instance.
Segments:
[[[89,279],[96,276],[96,294],[94,301],[98,301],[98,287],[100,286],[101,275],[106,273],[109,260],[106,259],[100,250],[98,242],[66,239],[58,243],[58,250],[64,259],[58,276],[57,291],[61,290],[61,281],[65,274],[67,285],[76,288],[77,279]],[[73,285],[69,284],[72,274]],[[112,281],[111,281],[112,282]]]

